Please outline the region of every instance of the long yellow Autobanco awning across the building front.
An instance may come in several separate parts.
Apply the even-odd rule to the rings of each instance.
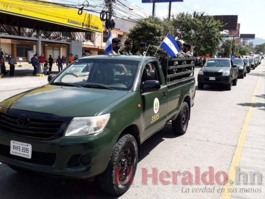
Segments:
[[[78,10],[74,8],[44,0],[0,0],[0,12],[44,21],[50,24],[72,27],[75,31],[80,29],[83,31],[102,32],[102,21],[98,16],[86,12],[79,15]],[[1,23],[3,24],[2,21]],[[19,26],[34,28],[30,27],[28,22],[20,22]]]

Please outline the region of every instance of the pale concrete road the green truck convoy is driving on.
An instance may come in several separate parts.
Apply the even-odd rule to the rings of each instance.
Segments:
[[[197,71],[198,69],[195,77]],[[226,91],[220,86],[197,89],[187,132],[183,136],[176,137],[172,132],[171,123],[168,123],[163,130],[145,141],[142,144],[142,157],[138,163],[134,182],[129,191],[119,198],[219,199],[221,196],[219,189],[223,188],[223,185],[218,184],[218,180],[222,181],[222,172],[227,173],[229,170],[259,79],[261,84],[255,97],[257,100],[262,99],[263,102],[255,101],[253,108],[257,110],[257,114],[260,112],[264,114],[264,60],[262,65],[247,74],[245,79],[239,79],[238,85],[233,86],[231,91]],[[4,78],[0,79],[0,100],[47,83],[46,77],[16,77],[8,81],[3,80]],[[21,84],[17,84],[19,81]],[[14,85],[17,85],[16,88]],[[265,132],[264,126],[260,125],[264,125],[264,121],[263,124],[257,123],[255,126]],[[265,139],[264,133],[259,139]],[[262,152],[264,153],[264,150]],[[263,159],[264,164],[265,159]],[[196,169],[200,174],[198,182],[195,182],[194,178]],[[207,175],[206,179],[203,179],[203,172],[207,171],[214,175],[221,173],[220,179],[215,175],[213,182],[208,184]],[[145,173],[152,174],[152,172],[154,179],[145,178]],[[177,178],[173,177],[173,172],[179,172]],[[264,174],[264,169],[261,172]],[[168,177],[165,177],[167,174]],[[94,182],[62,181],[39,174],[22,174],[4,164],[0,164],[0,182],[0,199],[117,198],[102,193]],[[255,185],[252,186],[255,188]],[[253,199],[264,198],[265,187],[262,188],[261,194],[251,195]],[[252,198],[248,196],[243,195],[242,198]]]

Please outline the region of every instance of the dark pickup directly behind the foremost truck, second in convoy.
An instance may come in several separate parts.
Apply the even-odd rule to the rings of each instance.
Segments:
[[[225,85],[230,91],[237,85],[238,67],[229,58],[212,58],[198,72],[198,88],[204,85]]]

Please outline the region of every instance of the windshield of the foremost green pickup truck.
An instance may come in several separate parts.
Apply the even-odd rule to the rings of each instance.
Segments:
[[[129,91],[139,64],[131,60],[80,59],[69,65],[51,84]]]

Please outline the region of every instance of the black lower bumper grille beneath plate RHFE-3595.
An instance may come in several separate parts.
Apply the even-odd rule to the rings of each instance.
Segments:
[[[42,153],[32,151],[31,159],[15,156],[10,154],[10,147],[0,144],[0,155],[12,158],[15,160],[20,160],[23,162],[28,162],[32,164],[52,166],[55,163],[56,154],[55,153]]]

